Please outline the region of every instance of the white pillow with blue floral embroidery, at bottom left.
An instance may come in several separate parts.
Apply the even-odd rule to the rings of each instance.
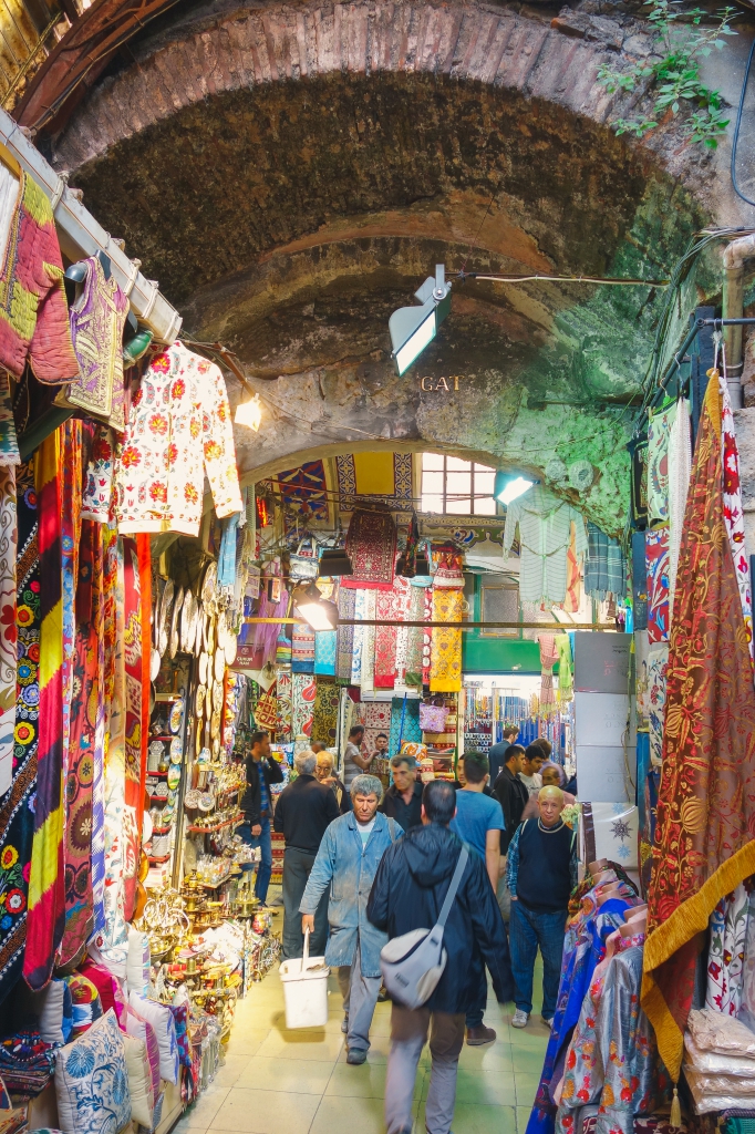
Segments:
[[[132,1118],[124,1038],[114,1012],[58,1051],[56,1095],[65,1134],[118,1134]]]

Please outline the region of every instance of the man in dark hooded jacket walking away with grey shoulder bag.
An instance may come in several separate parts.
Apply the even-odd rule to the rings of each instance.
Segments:
[[[433,780],[422,794],[423,826],[413,828],[385,850],[372,886],[367,917],[387,931],[389,939],[416,929],[432,929],[438,921],[463,846],[448,829],[455,814],[453,786]],[[393,1002],[385,1078],[388,1134],[412,1131],[414,1082],[431,1019],[433,1065],[425,1126],[427,1134],[449,1134],[465,1014],[477,992],[483,958],[499,1002],[506,1004],[514,995],[506,929],[485,863],[474,853],[469,854],[446,923],[443,947],[448,960],[427,1002],[421,1008]]]

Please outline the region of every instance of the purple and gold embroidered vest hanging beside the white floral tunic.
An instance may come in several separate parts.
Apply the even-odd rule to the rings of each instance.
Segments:
[[[124,327],[128,298],[114,276],[105,279],[99,256],[82,261],[86,269],[80,294],[70,307],[70,335],[80,379],[60,391],[58,405],[103,417],[122,433]]]

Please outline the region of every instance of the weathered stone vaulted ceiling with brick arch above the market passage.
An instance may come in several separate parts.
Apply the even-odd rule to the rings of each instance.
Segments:
[[[587,458],[580,503],[620,530],[654,289],[455,284],[419,362],[397,379],[389,358],[388,318],[435,263],[663,278],[703,221],[679,139],[654,153],[606,125],[597,64],[646,40],[589,9],[181,6],[52,138],[185,327],[262,392],[260,433],[237,430],[247,480],[376,438],[540,475]]]

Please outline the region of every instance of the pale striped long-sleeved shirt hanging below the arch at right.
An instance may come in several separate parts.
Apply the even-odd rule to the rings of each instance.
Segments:
[[[559,603],[566,598],[567,551],[575,525],[575,551],[587,551],[587,533],[582,513],[548,489],[535,484],[512,500],[506,513],[503,559],[507,559],[517,527],[521,559],[519,596],[521,602]]]

